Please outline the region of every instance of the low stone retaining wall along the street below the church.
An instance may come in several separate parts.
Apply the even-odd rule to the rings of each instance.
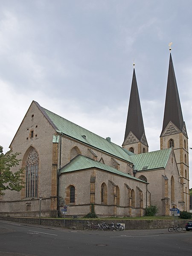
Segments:
[[[14,221],[26,224],[39,224],[39,218],[20,218],[20,217],[0,217],[1,220]],[[103,222],[103,220],[91,220],[93,223]],[[168,228],[174,224],[174,220],[118,220],[118,221],[106,221],[107,223],[124,223],[126,230],[137,229],[161,229]],[[178,223],[183,224],[187,220],[178,220]],[[87,220],[81,219],[65,219],[65,228],[81,230],[84,225],[87,224]],[[41,218],[41,225],[64,227],[64,219],[51,219]]]

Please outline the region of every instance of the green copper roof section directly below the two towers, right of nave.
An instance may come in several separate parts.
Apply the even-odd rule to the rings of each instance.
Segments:
[[[134,163],[134,169],[137,171],[146,171],[165,168],[171,151],[172,148],[167,148],[143,154],[135,154],[131,156]]]

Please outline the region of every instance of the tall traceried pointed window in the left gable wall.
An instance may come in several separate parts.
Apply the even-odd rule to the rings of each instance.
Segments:
[[[26,197],[38,196],[38,163],[38,153],[33,148],[26,159]]]

